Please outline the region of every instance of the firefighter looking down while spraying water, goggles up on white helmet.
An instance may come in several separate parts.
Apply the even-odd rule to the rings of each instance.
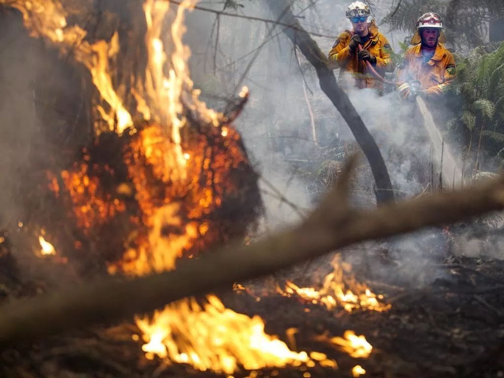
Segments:
[[[443,19],[437,13],[426,13],[418,19],[416,28],[413,47],[406,52],[398,72],[398,82],[404,82],[399,93],[403,97],[439,99],[456,74],[455,58],[443,45]],[[411,83],[419,88],[412,91]]]

